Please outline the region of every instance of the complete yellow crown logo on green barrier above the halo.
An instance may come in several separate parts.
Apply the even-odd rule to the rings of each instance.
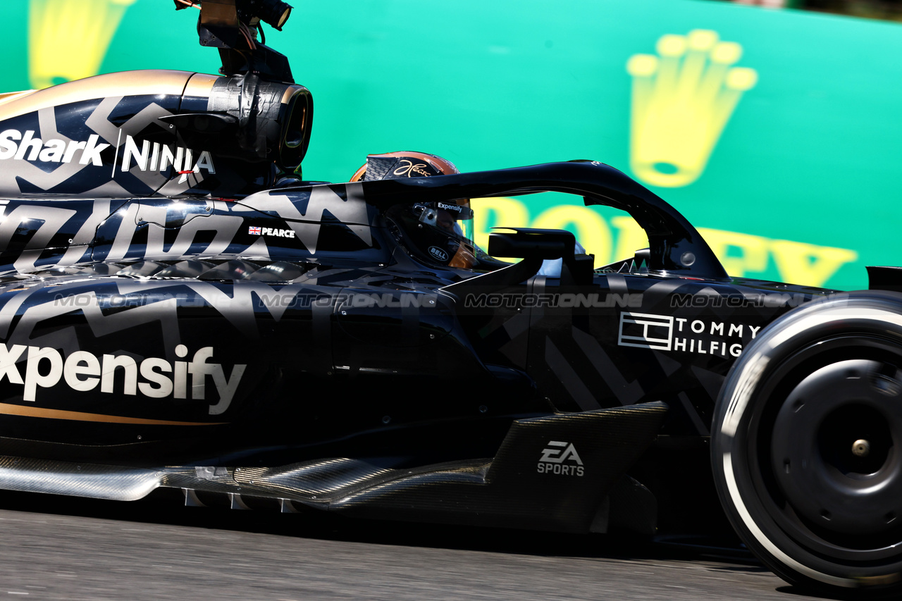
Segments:
[[[635,54],[632,76],[630,167],[651,185],[686,186],[704,171],[742,92],[755,86],[755,69],[732,67],[736,42],[696,29],[658,40],[658,56]]]

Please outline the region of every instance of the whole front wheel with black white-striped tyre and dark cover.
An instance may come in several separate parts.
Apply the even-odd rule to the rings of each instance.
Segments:
[[[902,594],[902,295],[837,294],[762,330],[712,432],[724,510],[779,576]]]

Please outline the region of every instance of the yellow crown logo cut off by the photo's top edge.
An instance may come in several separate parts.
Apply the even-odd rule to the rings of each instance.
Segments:
[[[32,87],[96,75],[125,10],[135,0],[31,0],[28,76]]]

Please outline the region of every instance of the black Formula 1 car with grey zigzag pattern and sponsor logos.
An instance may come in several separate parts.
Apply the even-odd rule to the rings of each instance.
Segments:
[[[896,269],[730,278],[600,162],[301,181],[312,99],[256,42],[284,6],[205,0],[221,77],[0,97],[0,488],[640,534],[719,496],[790,582],[898,594]],[[469,199],[548,190],[648,248],[466,236]]]

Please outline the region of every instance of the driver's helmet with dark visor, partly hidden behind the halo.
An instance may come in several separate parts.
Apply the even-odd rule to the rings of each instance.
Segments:
[[[351,181],[428,178],[460,173],[454,163],[435,154],[401,151],[370,154]],[[481,254],[473,243],[470,199],[416,202],[392,207],[387,217],[420,258],[459,269],[472,269]]]

